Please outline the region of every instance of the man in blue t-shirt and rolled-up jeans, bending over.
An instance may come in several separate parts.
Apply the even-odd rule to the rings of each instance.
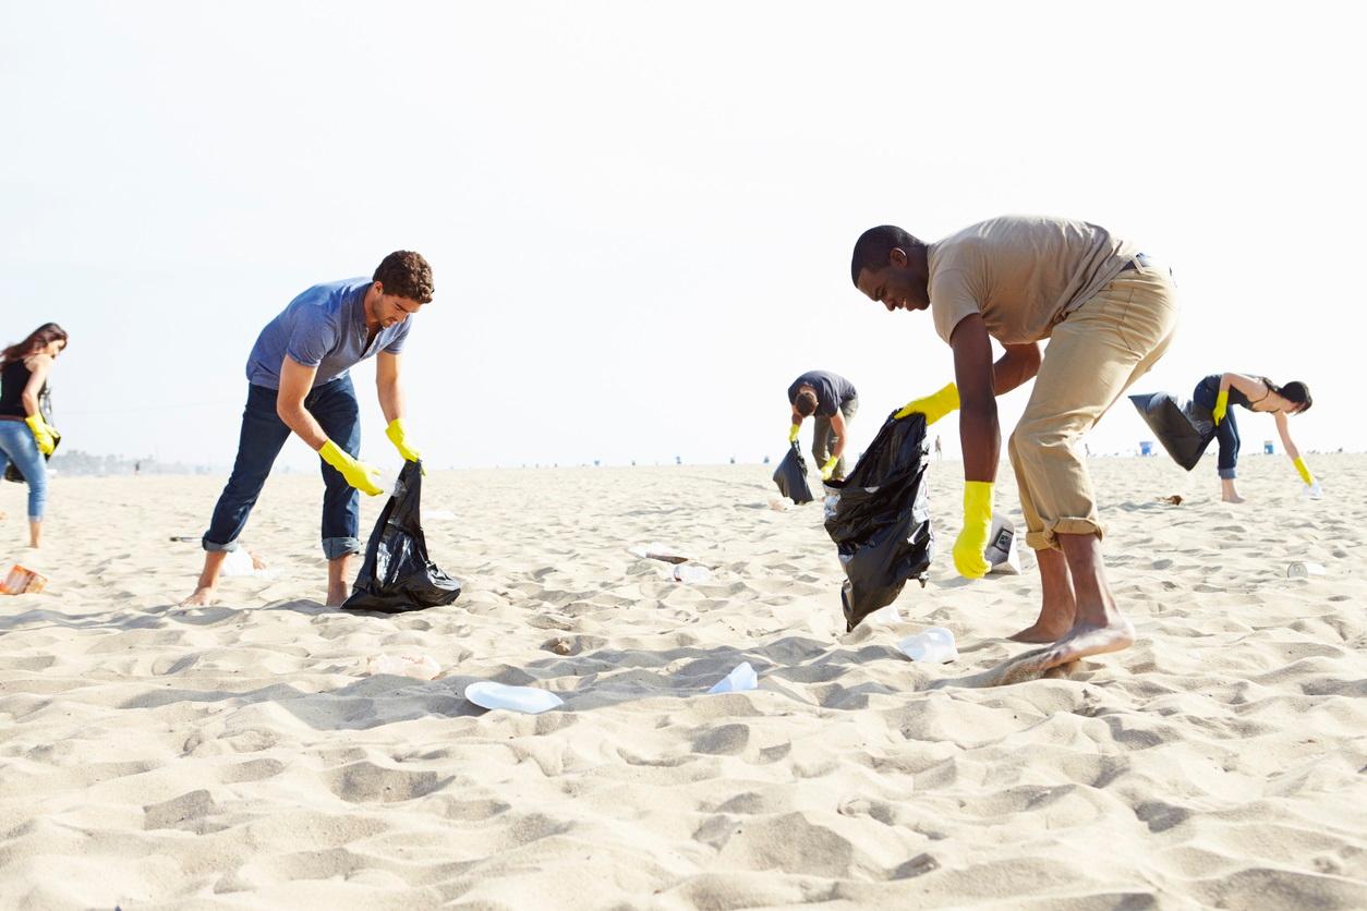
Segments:
[[[384,493],[377,470],[358,460],[361,419],[349,369],[376,355],[375,382],[388,422],[384,436],[399,453],[418,459],[403,423],[399,365],[409,317],[432,300],[432,269],[417,253],[384,257],[370,279],[346,279],[309,288],[271,322],[247,358],[247,404],[242,434],[209,530],[204,571],[182,604],[212,604],[219,572],[247,523],[271,466],[290,433],[321,458],[323,553],[328,560],[329,606],[347,598],[347,564],[361,553],[360,496]]]

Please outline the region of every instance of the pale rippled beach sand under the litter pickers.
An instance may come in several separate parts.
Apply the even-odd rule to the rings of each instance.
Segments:
[[[271,478],[268,574],[202,609],[170,538],[223,478],[56,478],[37,555],[3,485],[4,567],[49,582],[0,598],[0,906],[1367,907],[1367,456],[1310,463],[1323,500],[1249,456],[1236,507],[1210,459],[1092,460],[1139,642],[995,687],[1039,586],[1028,553],[954,576],[953,462],[930,585],[852,634],[820,504],[771,508],[766,466],[433,473],[466,589],[394,617],[321,605],[316,475]],[[956,662],[897,651],[927,626]],[[704,695],[742,661],[757,690]],[[565,705],[485,712],[477,680]]]

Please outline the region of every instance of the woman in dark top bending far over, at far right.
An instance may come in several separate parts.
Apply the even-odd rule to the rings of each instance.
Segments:
[[[1290,428],[1286,418],[1293,414],[1308,411],[1314,404],[1310,397],[1310,387],[1299,380],[1293,380],[1284,387],[1277,385],[1267,377],[1245,376],[1243,373],[1213,373],[1196,384],[1192,400],[1211,412],[1215,422],[1215,443],[1219,444],[1219,458],[1215,462],[1219,474],[1221,500],[1225,503],[1243,503],[1234,488],[1236,466],[1239,464],[1239,422],[1229,406],[1237,404],[1249,411],[1271,412],[1277,422],[1277,433],[1282,438],[1282,447],[1290,462],[1296,466],[1296,473],[1305,482],[1307,490],[1318,494],[1315,475],[1305,467],[1305,460],[1300,458],[1300,449],[1290,438]]]

